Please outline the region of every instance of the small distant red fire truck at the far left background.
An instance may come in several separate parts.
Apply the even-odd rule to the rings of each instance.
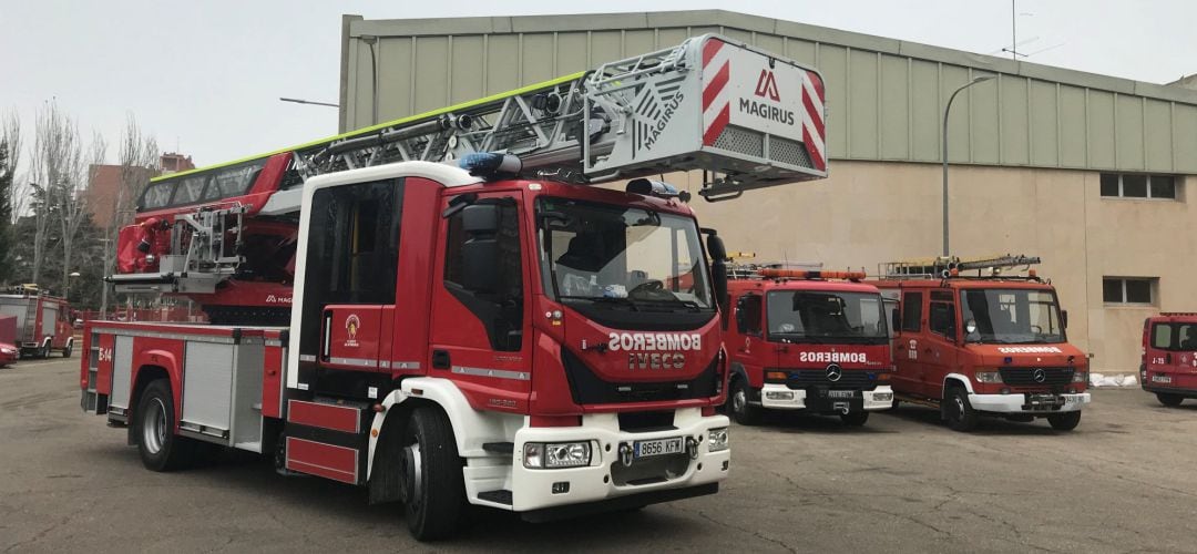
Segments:
[[[17,340],[13,346],[20,357],[49,358],[59,351],[71,358],[74,351],[74,328],[71,325],[71,304],[25,286],[10,294],[0,294],[0,315],[17,318]]]

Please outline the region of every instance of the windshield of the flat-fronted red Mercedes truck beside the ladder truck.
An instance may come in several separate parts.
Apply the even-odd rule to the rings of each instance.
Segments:
[[[876,293],[772,291],[767,317],[770,340],[782,342],[882,343],[889,337]]]

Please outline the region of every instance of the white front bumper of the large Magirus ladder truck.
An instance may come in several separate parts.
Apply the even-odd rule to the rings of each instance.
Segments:
[[[596,507],[602,509],[608,505],[620,505],[614,499],[624,497],[636,497],[628,501],[646,505],[713,493],[718,489],[717,483],[728,476],[731,451],[711,452],[707,436],[710,430],[727,428],[728,425],[725,415],[703,416],[699,408],[686,408],[674,413],[670,428],[651,432],[621,431],[615,414],[584,415],[579,427],[523,427],[515,437],[509,509],[528,512],[582,504],[596,504]],[[693,438],[697,443],[694,450],[681,455],[633,461],[630,467],[620,462],[620,446],[624,444],[673,437],[682,437],[683,442],[686,438]],[[583,440],[589,440],[591,445],[590,465],[567,469],[529,469],[523,465],[525,443]],[[658,467],[660,471],[656,471]],[[628,479],[630,476],[632,479]],[[470,479],[467,476],[468,482]],[[680,495],[664,493],[681,489],[688,489],[688,493]],[[469,494],[469,497],[475,495]]]

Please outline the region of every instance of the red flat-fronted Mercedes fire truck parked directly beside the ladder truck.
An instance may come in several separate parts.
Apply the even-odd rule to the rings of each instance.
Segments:
[[[864,425],[893,402],[889,330],[864,273],[745,266],[728,284],[730,413],[755,425],[762,409],[838,414]]]

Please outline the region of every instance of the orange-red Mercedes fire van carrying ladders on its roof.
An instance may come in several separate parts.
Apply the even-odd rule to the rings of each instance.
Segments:
[[[892,316],[895,406],[935,407],[956,431],[972,430],[980,415],[1076,428],[1089,403],[1088,359],[1068,343],[1068,312],[1034,263],[1001,256],[888,264],[876,285],[900,306]]]

